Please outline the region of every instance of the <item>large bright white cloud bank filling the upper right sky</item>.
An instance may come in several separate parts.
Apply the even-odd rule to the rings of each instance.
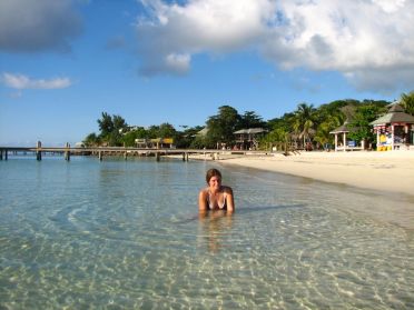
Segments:
[[[185,73],[197,53],[253,50],[283,70],[339,71],[361,90],[414,82],[414,1],[141,0],[140,72]]]

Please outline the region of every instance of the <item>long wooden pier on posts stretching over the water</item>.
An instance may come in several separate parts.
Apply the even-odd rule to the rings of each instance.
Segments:
[[[71,148],[69,143],[65,147],[42,147],[38,142],[36,147],[0,147],[0,160],[8,160],[9,156],[19,153],[33,153],[38,161],[42,160],[45,153],[62,154],[63,159],[70,161],[71,156],[92,156],[100,161],[105,157],[122,157],[125,160],[128,157],[154,157],[160,161],[164,156],[179,156],[183,161],[188,161],[190,154],[204,154],[207,159],[220,159],[223,154],[246,154],[246,153],[264,153],[263,151],[229,151],[229,150],[199,150],[199,149],[147,149],[147,148],[124,148],[124,147],[93,147],[93,148]]]

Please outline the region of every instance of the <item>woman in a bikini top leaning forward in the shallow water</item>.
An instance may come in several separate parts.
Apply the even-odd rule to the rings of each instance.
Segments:
[[[233,198],[233,189],[221,186],[221,173],[217,169],[209,169],[206,173],[208,187],[201,189],[198,194],[198,211],[206,212],[208,210],[235,210],[235,201]]]

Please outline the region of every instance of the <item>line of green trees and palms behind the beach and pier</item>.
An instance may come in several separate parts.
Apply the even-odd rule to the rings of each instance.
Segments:
[[[131,127],[121,116],[102,112],[97,120],[99,133],[88,134],[83,143],[88,147],[135,147],[136,139],[172,138],[177,148],[211,149],[221,144],[234,146],[234,132],[239,129],[263,128],[267,133],[260,138],[260,149],[272,146],[285,150],[305,146],[321,149],[333,143],[334,136],[329,132],[345,121],[353,129],[348,136],[352,140],[374,143],[375,137],[369,123],[386,113],[390,103],[392,102],[385,100],[346,99],[315,108],[302,102],[296,110],[267,121],[255,111],[239,114],[235,108],[221,106],[217,114],[207,119],[205,126],[183,126],[183,130],[177,130],[168,122],[149,128]],[[414,91],[403,93],[400,103],[407,113],[414,116]],[[200,134],[201,130],[204,134]]]

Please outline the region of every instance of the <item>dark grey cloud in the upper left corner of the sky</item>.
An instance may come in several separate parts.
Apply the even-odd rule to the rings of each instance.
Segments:
[[[1,0],[0,51],[68,51],[82,30],[72,0]]]

